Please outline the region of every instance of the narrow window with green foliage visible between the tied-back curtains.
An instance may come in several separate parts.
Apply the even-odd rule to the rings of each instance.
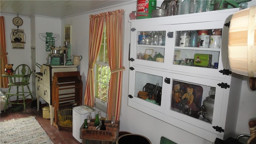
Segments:
[[[95,101],[107,106],[108,84],[110,81],[110,67],[108,65],[108,49],[106,44],[106,25],[104,26],[103,39],[98,60],[95,64]]]

